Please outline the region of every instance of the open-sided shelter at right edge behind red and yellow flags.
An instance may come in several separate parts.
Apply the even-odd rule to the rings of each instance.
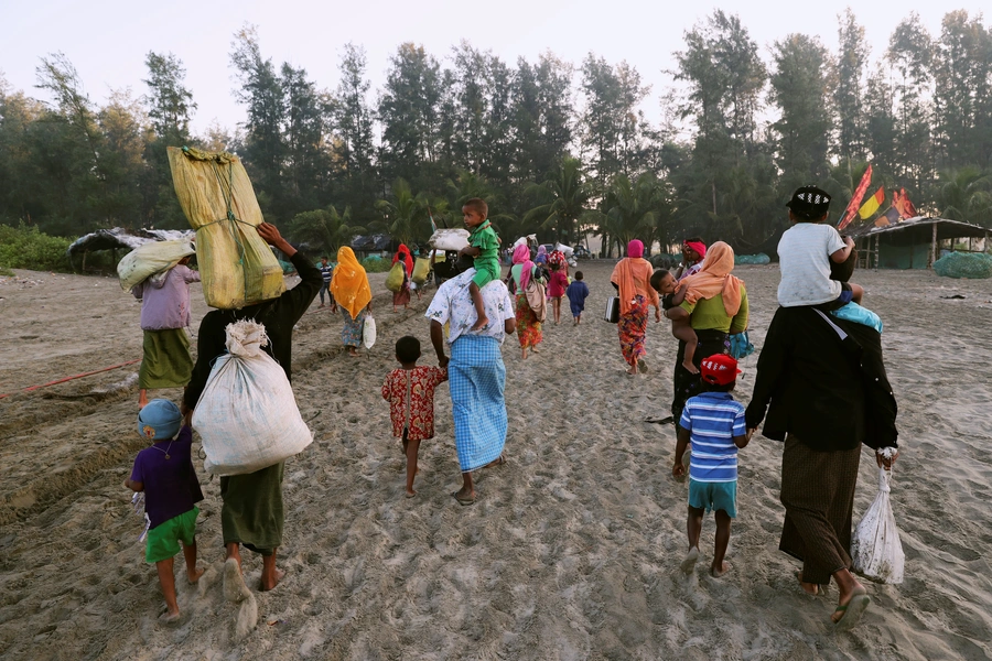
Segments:
[[[884,217],[881,218],[884,220]],[[967,251],[988,249],[990,230],[978,225],[917,216],[899,223],[869,223],[850,232],[858,247],[859,267],[866,269],[931,269],[942,248],[953,248],[956,239],[968,239]]]

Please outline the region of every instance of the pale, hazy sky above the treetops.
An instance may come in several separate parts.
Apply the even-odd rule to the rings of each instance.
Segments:
[[[112,89],[130,87],[136,96],[144,94],[145,54],[171,52],[183,61],[186,85],[198,105],[194,132],[202,133],[214,120],[233,129],[245,115],[231,96],[230,42],[248,22],[258,26],[265,57],[271,57],[277,67],[282,62],[304,67],[319,88],[337,85],[344,44],[365,46],[370,101],[385,79],[389,56],[402,42],[422,44],[443,61],[452,45],[466,39],[511,66],[519,56],[533,62],[549,50],[578,66],[592,51],[610,63],[626,59],[637,68],[644,83],[653,86],[643,109],[657,121],[659,96],[670,85],[662,71],[673,68],[672,52],[683,47],[683,33],[714,8],[738,14],[768,62],[772,44],[792,32],[819,35],[824,46],[835,51],[838,15],[849,4],[844,0],[719,4],[709,0],[0,0],[0,72],[13,89],[46,99],[43,90],[34,88],[35,67],[41,56],[62,51],[90,98],[103,104]],[[875,0],[853,7],[866,30],[873,59],[884,53],[893,29],[912,11],[932,36],[939,35],[947,11],[964,9],[972,18],[980,12],[977,0],[948,4]]]

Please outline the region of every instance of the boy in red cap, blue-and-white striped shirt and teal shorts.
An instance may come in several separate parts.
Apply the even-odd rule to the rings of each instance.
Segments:
[[[682,571],[692,572],[699,560],[699,534],[705,512],[715,510],[716,544],[710,574],[719,578],[730,571],[724,562],[730,542],[731,519],[737,516],[737,448],[747,445],[751,434],[744,422],[744,407],[734,401],[731,391],[737,383],[737,361],[716,354],[703,358],[700,378],[705,392],[686,402],[679,421],[679,441],[676,445],[671,474],[686,475],[682,455],[692,445],[689,459],[689,553],[682,561]]]

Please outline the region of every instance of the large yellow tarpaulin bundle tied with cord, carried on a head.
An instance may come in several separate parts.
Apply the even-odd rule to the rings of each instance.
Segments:
[[[263,219],[240,160],[170,147],[169,165],[180,206],[196,230],[206,304],[236,310],[284,292],[282,268],[255,230]]]

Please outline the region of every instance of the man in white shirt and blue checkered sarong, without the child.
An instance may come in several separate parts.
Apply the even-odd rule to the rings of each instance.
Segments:
[[[475,269],[468,268],[442,284],[425,315],[431,319],[431,344],[438,354],[438,365],[448,367],[451,383],[455,448],[462,468],[462,488],[452,496],[459,505],[475,502],[473,470],[505,462],[506,366],[500,347],[517,325],[506,285],[502,280],[494,280],[482,290],[489,323],[474,329],[475,306],[468,293],[474,277]],[[450,361],[444,355],[445,323],[451,328]]]

